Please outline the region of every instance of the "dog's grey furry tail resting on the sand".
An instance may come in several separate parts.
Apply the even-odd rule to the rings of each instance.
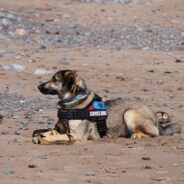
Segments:
[[[181,133],[181,125],[179,123],[158,123],[160,135],[173,135]]]

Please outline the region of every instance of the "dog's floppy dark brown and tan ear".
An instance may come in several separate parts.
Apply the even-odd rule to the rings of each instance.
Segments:
[[[67,87],[72,93],[77,91],[86,91],[87,86],[84,80],[79,77],[74,71],[64,70],[62,71],[63,86]]]

